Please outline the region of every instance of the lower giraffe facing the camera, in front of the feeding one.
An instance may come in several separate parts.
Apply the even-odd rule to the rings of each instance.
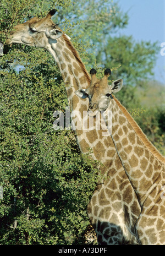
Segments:
[[[138,124],[120,104],[113,92],[122,89],[123,80],[108,85],[110,69],[98,80],[96,70],[91,70],[90,88],[75,92],[90,100],[89,115],[96,117],[99,111],[106,120],[112,111],[111,138],[122,162],[125,173],[138,196],[141,213],[136,222],[136,232],[141,244],[165,244],[165,158],[157,151]]]

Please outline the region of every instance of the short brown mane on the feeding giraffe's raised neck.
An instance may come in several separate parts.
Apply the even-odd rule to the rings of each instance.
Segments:
[[[72,42],[70,42],[70,40],[68,39],[68,37],[65,34],[63,34],[63,38],[64,38],[65,42],[67,43],[69,49],[72,51],[74,57],[76,58],[76,61],[80,64],[80,68],[84,72],[84,75],[85,75],[85,78],[87,80],[87,83],[90,85],[90,83],[91,83],[90,75],[87,72],[84,63],[81,61],[79,53],[75,50],[74,46],[72,45]]]

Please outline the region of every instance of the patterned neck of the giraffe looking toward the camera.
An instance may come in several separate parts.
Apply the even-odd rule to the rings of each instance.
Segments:
[[[109,110],[112,111],[111,137],[124,170],[142,205],[160,180],[163,180],[164,164],[158,159],[158,156],[160,158],[162,156],[156,157],[142,141],[131,122],[124,115],[122,107],[115,97],[110,105]]]

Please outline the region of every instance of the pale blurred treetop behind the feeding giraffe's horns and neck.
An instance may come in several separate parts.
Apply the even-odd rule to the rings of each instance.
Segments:
[[[118,3],[113,0],[77,1],[67,9],[59,8],[58,17],[62,26],[62,21],[65,24],[65,18],[76,25],[73,37],[86,45],[89,55],[84,61],[88,68],[96,68],[96,56],[102,51],[102,46],[106,45],[109,34],[125,28],[128,24],[128,15],[123,13]],[[104,68],[102,64],[100,67]]]

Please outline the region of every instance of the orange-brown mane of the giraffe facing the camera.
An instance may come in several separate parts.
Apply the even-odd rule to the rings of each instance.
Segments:
[[[146,146],[147,149],[155,156],[158,160],[163,162],[165,164],[165,157],[160,154],[160,152],[153,146],[153,144],[147,139],[144,132],[142,132],[141,128],[138,126],[136,121],[131,117],[130,113],[127,111],[127,109],[120,104],[120,102],[114,97],[114,100],[116,101],[117,105],[119,106],[120,110],[123,112],[124,116],[127,118],[128,122],[130,123],[131,127],[135,130],[136,134],[141,139],[142,143]]]

